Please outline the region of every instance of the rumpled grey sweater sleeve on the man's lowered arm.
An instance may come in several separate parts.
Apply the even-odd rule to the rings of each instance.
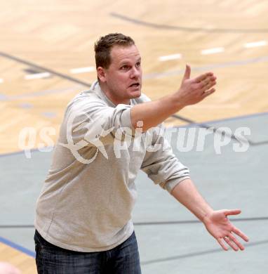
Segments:
[[[141,169],[154,183],[171,193],[178,183],[190,178],[189,169],[173,154],[163,134],[162,125],[152,129],[150,133],[152,138],[150,144],[147,145]]]

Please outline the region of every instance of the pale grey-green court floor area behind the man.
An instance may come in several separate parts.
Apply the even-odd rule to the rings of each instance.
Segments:
[[[202,152],[196,152],[195,147],[179,152],[176,133],[171,138],[175,154],[189,167],[197,188],[212,207],[242,209],[242,214],[236,216],[242,220],[235,220],[234,224],[250,237],[250,242],[243,252],[224,252],[201,223],[168,223],[196,218],[140,173],[133,221],[137,223],[143,274],[267,273],[268,113],[206,124],[229,126],[232,131],[248,126],[251,130],[247,138],[252,145],[246,152],[234,152],[237,141],[232,140],[220,155],[215,152],[213,134],[206,137]],[[33,152],[32,159],[26,159],[22,153],[0,156],[0,236],[32,251],[34,228],[3,226],[32,226],[34,204],[50,163],[51,152]],[[260,219],[254,220],[257,217]],[[161,221],[167,223],[148,224]]]

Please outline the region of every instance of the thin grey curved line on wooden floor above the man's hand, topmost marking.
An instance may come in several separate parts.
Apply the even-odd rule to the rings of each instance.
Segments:
[[[109,13],[110,16],[114,18],[121,19],[123,21],[132,22],[136,25],[142,25],[145,27],[152,27],[155,29],[162,29],[162,30],[180,30],[184,32],[232,32],[232,33],[267,33],[268,29],[219,29],[219,28],[202,28],[202,27],[177,27],[177,26],[170,26],[170,25],[164,25],[164,24],[156,24],[153,22],[146,22],[142,20],[138,20],[135,18],[130,18],[125,15],[121,15],[119,13]]]

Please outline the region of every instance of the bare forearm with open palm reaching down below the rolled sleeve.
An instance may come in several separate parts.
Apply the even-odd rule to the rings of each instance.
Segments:
[[[235,234],[239,235],[246,242],[248,242],[248,237],[228,219],[229,215],[240,214],[240,209],[214,211],[203,199],[190,179],[185,179],[176,185],[171,195],[203,222],[208,232],[215,237],[222,249],[228,250],[225,242],[235,251],[244,249],[243,244],[237,240]]]

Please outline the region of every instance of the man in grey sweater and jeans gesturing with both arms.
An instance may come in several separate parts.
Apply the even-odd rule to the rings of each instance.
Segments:
[[[227,218],[241,211],[214,211],[161,131],[170,115],[215,91],[213,73],[190,79],[187,65],[178,91],[150,101],[141,94],[141,58],[133,39],[101,37],[95,61],[98,81],[67,106],[37,202],[38,272],[141,273],[131,221],[139,169],[192,211],[223,249],[227,243],[243,250],[234,234],[248,237]]]

